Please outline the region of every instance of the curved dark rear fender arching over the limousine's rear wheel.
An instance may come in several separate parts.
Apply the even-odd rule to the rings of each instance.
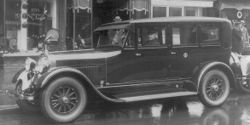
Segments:
[[[235,74],[230,68],[230,66],[228,66],[226,63],[219,62],[219,61],[206,62],[201,65],[201,68],[199,69],[199,72],[197,75],[197,92],[199,90],[198,88],[200,87],[200,82],[202,80],[202,77],[205,75],[207,71],[213,68],[218,68],[222,70],[223,72],[225,72],[230,80],[230,84],[235,82]]]

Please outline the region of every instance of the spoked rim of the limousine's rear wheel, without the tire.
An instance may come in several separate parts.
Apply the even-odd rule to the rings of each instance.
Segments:
[[[208,80],[206,94],[209,99],[216,101],[220,99],[225,92],[225,81],[219,76],[213,76]]]

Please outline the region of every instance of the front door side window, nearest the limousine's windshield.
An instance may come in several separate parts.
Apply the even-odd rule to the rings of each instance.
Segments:
[[[136,29],[138,47],[161,47],[166,45],[166,29],[160,26],[141,26]]]

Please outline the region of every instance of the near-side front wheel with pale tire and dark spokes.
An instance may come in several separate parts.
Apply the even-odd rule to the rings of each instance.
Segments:
[[[74,121],[81,115],[86,104],[86,89],[71,77],[54,80],[41,94],[42,112],[54,122]]]

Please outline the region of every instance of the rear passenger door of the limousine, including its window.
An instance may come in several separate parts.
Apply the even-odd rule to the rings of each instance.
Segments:
[[[174,23],[172,30],[171,53],[176,55],[172,69],[176,77],[191,77],[192,70],[200,62],[197,41],[197,25],[195,23]]]

